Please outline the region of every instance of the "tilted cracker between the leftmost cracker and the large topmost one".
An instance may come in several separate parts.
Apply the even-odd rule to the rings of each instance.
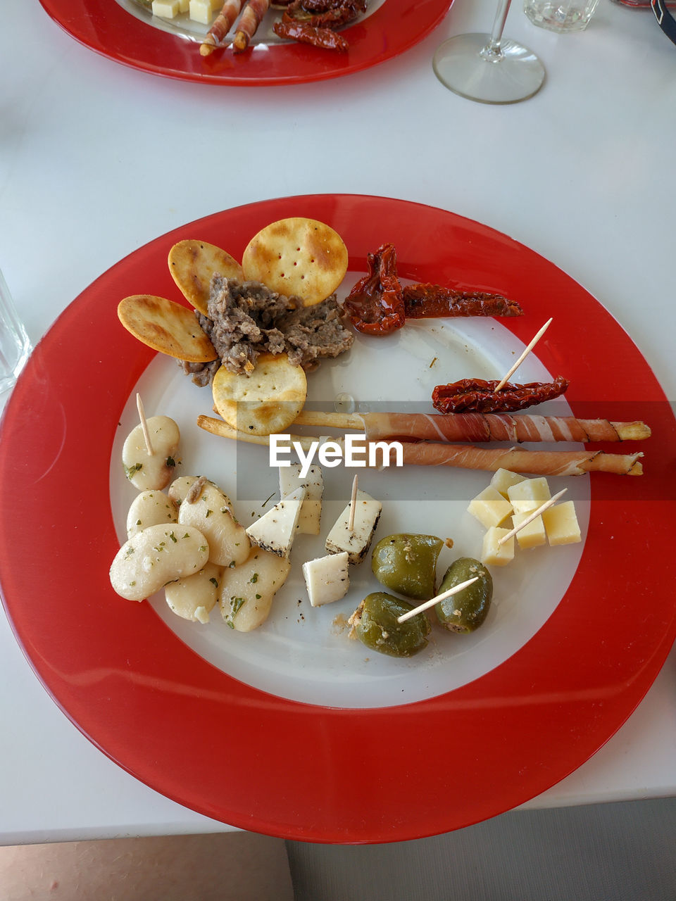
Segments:
[[[242,281],[242,267],[226,250],[206,241],[178,241],[169,250],[169,272],[183,296],[200,313],[208,315],[211,277]]]

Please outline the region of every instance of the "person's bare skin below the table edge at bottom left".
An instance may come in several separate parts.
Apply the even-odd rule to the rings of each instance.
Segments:
[[[0,847],[2,901],[293,901],[281,839],[216,833]]]

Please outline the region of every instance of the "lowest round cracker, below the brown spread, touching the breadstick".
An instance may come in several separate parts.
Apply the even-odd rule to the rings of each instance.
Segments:
[[[231,428],[271,435],[286,429],[303,409],[307,379],[286,353],[261,353],[251,376],[218,369],[212,391],[216,411]]]

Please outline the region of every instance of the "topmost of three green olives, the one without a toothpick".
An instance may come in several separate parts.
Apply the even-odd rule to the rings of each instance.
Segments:
[[[435,535],[388,535],[371,554],[373,575],[400,595],[426,601],[434,597],[436,560],[443,541]]]

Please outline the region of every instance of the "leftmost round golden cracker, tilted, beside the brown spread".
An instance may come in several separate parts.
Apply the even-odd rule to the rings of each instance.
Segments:
[[[214,345],[186,306],[151,294],[125,297],[117,306],[120,322],[152,350],[189,363],[218,359]]]

